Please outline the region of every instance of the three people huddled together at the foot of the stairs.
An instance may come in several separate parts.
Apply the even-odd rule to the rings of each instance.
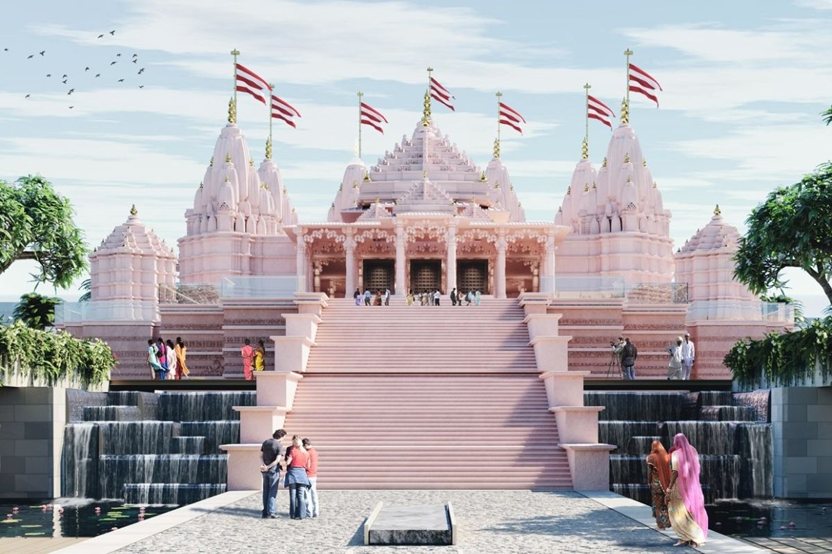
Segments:
[[[260,473],[263,474],[263,512],[261,517],[277,517],[277,488],[280,470],[285,468],[283,486],[289,489],[289,517],[305,519],[318,517],[318,451],[310,439],[292,437],[288,449],[280,439],[284,429],[277,429],[260,447]]]

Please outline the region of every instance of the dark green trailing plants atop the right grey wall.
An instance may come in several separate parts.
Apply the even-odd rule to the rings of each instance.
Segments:
[[[723,360],[742,387],[800,384],[815,375],[832,375],[832,316],[790,333],[736,342]]]

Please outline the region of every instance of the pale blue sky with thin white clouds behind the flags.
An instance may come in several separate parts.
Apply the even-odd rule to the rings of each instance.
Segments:
[[[501,157],[530,220],[552,221],[580,158],[584,83],[618,112],[626,48],[664,88],[659,109],[633,96],[630,120],[676,248],[716,203],[744,231],[770,190],[832,157],[832,127],[820,118],[832,102],[832,0],[3,4],[0,179],[51,180],[91,248],[133,203],[176,248],[225,125],[234,48],[303,115],[296,130],[274,132],[301,221],[326,218],[354,157],[356,92],[389,120],[386,135],[364,128],[373,164],[413,132],[428,66],[456,96],[456,112],[434,106],[433,119],[477,164],[490,159],[496,91],[528,121],[522,136],[503,131]],[[265,106],[240,96],[238,123],[261,159]],[[609,138],[591,122],[595,164]],[[0,275],[0,300],[31,291],[31,271],[17,262]],[[786,277],[790,295],[819,315],[820,287],[801,272]]]

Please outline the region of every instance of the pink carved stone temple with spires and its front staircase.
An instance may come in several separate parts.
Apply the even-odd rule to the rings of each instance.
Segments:
[[[222,446],[230,489],[260,488],[246,468],[284,424],[329,447],[329,488],[607,488],[615,447],[599,443],[603,407],[584,405],[583,384],[620,378],[611,341],[637,346],[636,379],[666,379],[666,347],[689,332],[693,378],[727,379],[722,359],[736,340],[792,326],[782,306],[734,281],[739,233],[718,206],[674,246],[626,103],[603,158],[593,164],[585,141],[572,179],[551,183],[562,204],[547,221],[527,221],[499,141],[478,164],[443,134],[431,113],[442,91],[425,94],[414,129],[382,158],[346,166],[318,222],[299,220],[271,140],[255,162],[232,102],[205,174],[194,176],[178,257],[141,208],[92,254],[92,300],[66,306],[61,325],[109,341],[120,359],[113,378],[149,378],[151,337],[182,337],[191,379],[240,378],[243,341],[265,341],[258,405],[235,407],[240,443]],[[390,306],[354,305],[355,291],[387,289]],[[479,292],[482,303],[449,306],[453,290]],[[409,291],[439,291],[442,306],[408,306]],[[463,408],[476,417],[438,415]],[[439,477],[408,465],[427,445],[407,429],[424,425],[480,445],[500,429],[511,443],[501,467],[516,472],[507,480],[483,468],[493,454],[476,446]],[[389,473],[351,465],[372,441],[398,445],[379,453]]]

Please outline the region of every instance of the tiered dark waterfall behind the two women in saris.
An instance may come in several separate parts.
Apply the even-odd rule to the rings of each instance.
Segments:
[[[645,461],[650,445],[661,440],[670,448],[673,436],[684,433],[701,455],[707,502],[773,495],[767,391],[591,391],[584,393],[584,403],[606,406],[599,414],[598,436],[602,443],[619,447],[610,456],[610,483],[616,493],[650,503]],[[760,414],[766,415],[762,422]]]

